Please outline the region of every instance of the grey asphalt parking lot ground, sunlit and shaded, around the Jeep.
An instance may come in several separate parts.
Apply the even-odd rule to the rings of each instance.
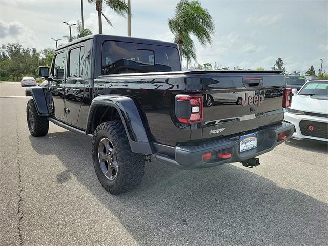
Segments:
[[[0,83],[0,245],[327,245],[326,144],[288,141],[252,169],[153,160],[113,196],[88,138],[51,123],[30,136],[24,90]]]

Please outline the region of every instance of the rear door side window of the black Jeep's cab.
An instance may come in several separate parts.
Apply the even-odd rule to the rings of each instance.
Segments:
[[[68,77],[82,77],[84,47],[70,50]]]

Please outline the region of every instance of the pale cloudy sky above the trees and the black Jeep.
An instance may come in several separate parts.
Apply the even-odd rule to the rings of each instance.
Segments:
[[[313,65],[328,71],[328,1],[200,0],[214,18],[216,33],[206,48],[196,42],[199,63],[271,69],[281,57],[287,71]],[[172,41],[167,19],[177,0],[131,0],[132,36]],[[80,0],[0,0],[0,45],[19,42],[38,50],[69,34],[63,21],[81,19]],[[104,6],[104,34],[127,35],[127,19]],[[95,6],[84,0],[85,27],[97,33]],[[73,35],[75,30],[73,29]]]

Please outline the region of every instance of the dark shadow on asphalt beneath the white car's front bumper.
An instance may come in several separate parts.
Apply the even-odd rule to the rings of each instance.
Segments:
[[[289,139],[285,143],[286,145],[293,146],[302,150],[313,151],[322,154],[328,153],[328,143],[323,141]]]

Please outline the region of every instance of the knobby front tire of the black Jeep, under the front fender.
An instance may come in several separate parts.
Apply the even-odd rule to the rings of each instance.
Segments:
[[[31,110],[31,114],[29,114],[30,110]],[[30,117],[32,117],[33,124],[31,124]],[[41,137],[48,134],[49,120],[47,119],[47,117],[38,115],[33,99],[27,102],[26,118],[27,118],[27,126],[33,137]]]

